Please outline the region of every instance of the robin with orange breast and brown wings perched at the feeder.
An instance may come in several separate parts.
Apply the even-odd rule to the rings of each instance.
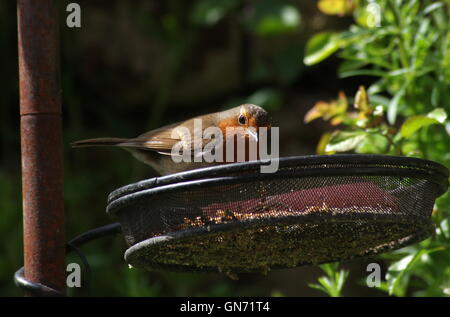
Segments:
[[[209,127],[220,129],[224,136],[222,142],[224,156],[226,152],[227,129],[234,129],[238,137],[244,137],[247,149],[245,156],[246,161],[249,160],[248,140],[252,139],[253,141],[258,142],[258,128],[267,127],[270,129],[271,125],[271,118],[267,111],[253,104],[243,104],[225,111],[205,114],[182,122],[166,125],[141,134],[136,138],[88,139],[74,142],[72,143],[72,146],[118,146],[130,151],[135,158],[150,165],[160,175],[220,164],[218,162],[206,162],[204,160],[201,162],[194,162],[193,159],[190,162],[175,162],[172,159],[172,148],[180,141],[183,145],[190,146],[191,149],[194,149],[195,119],[201,120],[203,130],[201,131],[202,136],[205,129]],[[202,139],[203,145],[210,141],[211,140],[208,139]],[[236,144],[237,142],[235,142],[235,146]],[[190,155],[193,157],[194,151],[192,151]],[[234,156],[234,161],[236,161],[236,151],[234,151]],[[226,161],[225,157],[223,161]]]

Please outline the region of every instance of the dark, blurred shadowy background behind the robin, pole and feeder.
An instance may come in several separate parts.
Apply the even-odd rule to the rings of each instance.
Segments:
[[[200,0],[76,1],[82,27],[72,29],[65,24],[69,2],[59,1],[67,238],[114,221],[105,214],[108,193],[154,176],[125,151],[71,149],[71,142],[133,137],[252,102],[265,107],[274,126],[280,126],[281,156],[314,154],[328,127],[320,121],[305,125],[306,111],[339,90],[353,95],[364,84],[361,79],[338,79],[337,58],[313,67],[303,64],[311,35],[344,29],[351,22],[323,15],[316,1],[236,0],[222,11],[208,11],[207,1]],[[209,3],[220,8],[222,2]],[[280,22],[286,7],[291,17],[292,10],[298,13],[299,23]],[[1,1],[0,296],[22,294],[12,279],[22,265],[16,29],[16,2]],[[93,295],[322,295],[308,287],[321,275],[318,267],[242,275],[233,281],[219,274],[128,269],[125,248],[121,236],[83,247],[93,269]],[[73,261],[79,262],[67,258]],[[343,263],[351,269],[344,295],[382,294],[362,286],[371,261]]]

